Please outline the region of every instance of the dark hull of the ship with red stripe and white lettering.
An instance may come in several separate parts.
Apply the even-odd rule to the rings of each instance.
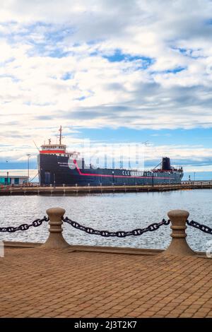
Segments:
[[[122,170],[86,168],[81,160],[70,161],[67,156],[38,155],[38,173],[41,186],[110,186],[142,184],[179,184],[183,172],[179,170]]]

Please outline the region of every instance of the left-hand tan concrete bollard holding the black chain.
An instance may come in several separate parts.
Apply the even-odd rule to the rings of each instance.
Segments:
[[[62,223],[61,218],[64,216],[66,210],[64,208],[49,208],[47,210],[47,215],[49,217],[49,237],[45,244],[42,244],[43,248],[49,249],[63,249],[69,247],[62,236]]]

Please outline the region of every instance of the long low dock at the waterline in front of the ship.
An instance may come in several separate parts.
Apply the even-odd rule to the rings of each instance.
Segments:
[[[175,191],[212,189],[212,180],[182,182],[181,184],[155,184],[142,186],[2,186],[0,196],[6,195],[76,195],[126,192]]]

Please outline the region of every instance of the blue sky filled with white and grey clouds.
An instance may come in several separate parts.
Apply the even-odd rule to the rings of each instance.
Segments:
[[[211,0],[1,0],[0,49],[1,172],[60,125],[212,171]]]

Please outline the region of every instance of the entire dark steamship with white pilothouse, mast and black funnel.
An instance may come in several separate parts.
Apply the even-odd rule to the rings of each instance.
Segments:
[[[41,186],[110,186],[142,184],[179,184],[183,177],[182,167],[170,165],[170,158],[163,157],[160,168],[153,170],[127,170],[123,168],[103,168],[86,165],[80,153],[67,152],[62,144],[61,127],[59,144],[41,146],[37,157],[38,175]]]

